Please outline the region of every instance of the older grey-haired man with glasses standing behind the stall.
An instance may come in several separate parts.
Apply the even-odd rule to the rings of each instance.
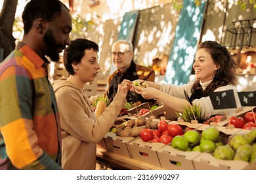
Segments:
[[[133,44],[129,41],[119,40],[112,45],[110,53],[117,70],[108,76],[108,97],[112,101],[117,93],[118,84],[127,80],[148,80],[154,82],[155,73],[153,69],[137,65],[133,61]],[[141,96],[134,97],[134,93],[127,95],[127,102],[144,101]]]

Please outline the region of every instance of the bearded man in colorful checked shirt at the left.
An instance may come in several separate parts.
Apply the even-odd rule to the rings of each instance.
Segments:
[[[72,17],[58,0],[32,0],[24,37],[0,65],[0,169],[61,169],[58,109],[47,78],[49,56],[70,43]]]

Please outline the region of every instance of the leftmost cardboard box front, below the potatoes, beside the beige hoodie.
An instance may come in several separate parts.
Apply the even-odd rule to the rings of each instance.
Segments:
[[[134,137],[119,137],[116,133],[108,133],[104,137],[104,141],[109,152],[114,152],[128,158],[132,158],[128,144],[134,140]]]

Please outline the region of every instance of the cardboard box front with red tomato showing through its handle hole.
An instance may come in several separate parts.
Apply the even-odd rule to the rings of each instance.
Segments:
[[[143,142],[140,138],[129,143],[133,159],[150,163],[158,167],[161,167],[161,164],[156,151],[163,146],[165,146],[165,144],[158,142]]]

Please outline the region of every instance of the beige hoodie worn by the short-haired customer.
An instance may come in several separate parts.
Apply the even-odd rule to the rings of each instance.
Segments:
[[[97,120],[81,88],[66,81],[66,78],[55,80],[52,84],[62,129],[62,168],[95,169],[96,143],[112,127],[126,99],[117,93]]]

